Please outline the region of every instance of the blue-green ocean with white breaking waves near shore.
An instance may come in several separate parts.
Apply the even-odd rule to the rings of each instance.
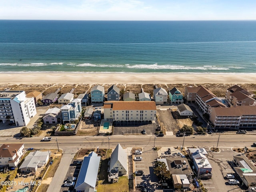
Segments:
[[[256,74],[256,21],[0,20],[0,72]]]

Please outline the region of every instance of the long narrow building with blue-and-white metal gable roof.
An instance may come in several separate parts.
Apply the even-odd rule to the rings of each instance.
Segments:
[[[76,181],[76,191],[94,192],[100,166],[100,156],[91,152],[84,157],[80,172]]]

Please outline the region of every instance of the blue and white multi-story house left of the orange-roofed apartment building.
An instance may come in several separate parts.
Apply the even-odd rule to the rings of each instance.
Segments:
[[[61,108],[63,124],[71,123],[77,120],[82,112],[81,99],[74,99],[68,105],[63,105]]]

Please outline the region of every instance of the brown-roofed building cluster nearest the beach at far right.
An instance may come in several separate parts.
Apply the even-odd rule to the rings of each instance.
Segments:
[[[227,89],[225,99],[228,101],[228,104],[232,106],[256,105],[256,100],[251,96],[252,94],[246,89],[243,89],[238,85],[234,85]]]

